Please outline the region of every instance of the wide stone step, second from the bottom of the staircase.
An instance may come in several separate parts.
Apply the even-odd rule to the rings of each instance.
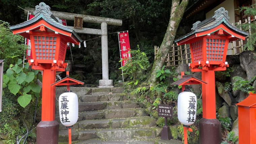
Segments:
[[[159,137],[161,128],[136,128],[136,129],[94,129],[81,130],[71,129],[71,139],[73,141],[90,139],[124,140],[124,139],[152,139]],[[68,130],[59,132],[59,142],[68,141]]]

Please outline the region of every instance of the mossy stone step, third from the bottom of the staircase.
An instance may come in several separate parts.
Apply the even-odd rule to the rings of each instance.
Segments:
[[[100,119],[100,120],[83,120],[78,121],[73,125],[73,128],[78,129],[119,129],[119,128],[139,128],[139,127],[154,127],[156,119],[143,116],[131,118],[114,118],[114,119]],[[67,128],[60,124],[60,130],[67,130]]]

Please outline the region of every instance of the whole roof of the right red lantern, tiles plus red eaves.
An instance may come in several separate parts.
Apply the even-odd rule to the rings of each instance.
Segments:
[[[249,33],[232,26],[228,20],[228,11],[221,7],[208,19],[194,23],[190,33],[174,40],[174,42],[177,42],[177,45],[187,44],[196,37],[211,35],[214,34],[214,32],[218,32],[217,35],[230,35],[229,42],[237,39],[244,40],[245,37],[249,35]],[[221,32],[219,30],[221,30]]]

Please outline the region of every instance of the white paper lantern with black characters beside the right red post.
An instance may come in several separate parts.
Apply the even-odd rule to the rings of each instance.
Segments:
[[[178,119],[183,125],[191,125],[196,120],[196,95],[182,92],[178,96]]]

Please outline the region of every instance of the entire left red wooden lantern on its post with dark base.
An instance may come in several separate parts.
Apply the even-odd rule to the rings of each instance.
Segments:
[[[36,6],[35,17],[24,23],[11,26],[13,34],[30,39],[33,59],[32,69],[42,70],[42,121],[37,124],[37,144],[58,144],[59,123],[55,120],[56,70],[65,71],[67,42],[79,44],[77,34],[52,15],[50,7],[41,2]]]

